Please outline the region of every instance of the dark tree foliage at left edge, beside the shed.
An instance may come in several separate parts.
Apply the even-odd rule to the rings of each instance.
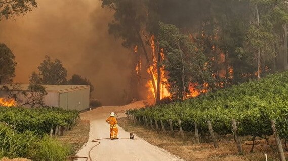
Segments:
[[[15,66],[14,54],[5,44],[0,43],[0,84],[12,82],[12,78],[15,77]]]

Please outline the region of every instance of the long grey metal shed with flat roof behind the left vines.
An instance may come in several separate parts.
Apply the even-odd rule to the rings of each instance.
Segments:
[[[20,91],[27,90],[29,84],[20,84]],[[84,110],[89,108],[89,85],[42,85],[47,91],[44,104],[63,109]],[[20,96],[23,97],[23,96]]]

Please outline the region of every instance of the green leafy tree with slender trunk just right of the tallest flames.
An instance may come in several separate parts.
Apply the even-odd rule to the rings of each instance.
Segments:
[[[159,40],[167,55],[164,63],[169,72],[170,91],[174,96],[181,99],[193,96],[191,88],[191,94],[187,91],[193,82],[197,82],[194,85],[199,83],[205,88],[208,82],[212,84],[207,57],[189,40],[188,35],[181,34],[174,25],[160,23]]]

